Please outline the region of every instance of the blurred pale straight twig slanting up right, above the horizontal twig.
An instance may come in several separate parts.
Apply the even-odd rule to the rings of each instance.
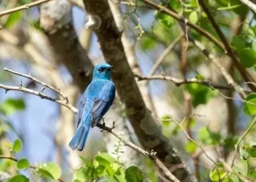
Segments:
[[[166,58],[166,56],[169,54],[169,52],[172,50],[172,48],[174,48],[174,46],[176,46],[176,44],[180,41],[180,38],[182,38],[182,36],[184,36],[183,33],[181,33],[179,36],[177,36],[173,40],[173,42],[164,50],[164,52],[162,52],[162,54],[158,58],[157,62],[155,63],[155,65],[153,66],[151,71],[149,71],[149,76],[152,76],[155,74],[155,72],[159,68],[160,64],[162,64],[162,62],[164,61],[164,58]]]

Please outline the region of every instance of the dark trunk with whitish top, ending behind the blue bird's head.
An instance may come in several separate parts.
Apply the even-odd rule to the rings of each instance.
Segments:
[[[50,1],[40,5],[40,26],[50,44],[70,71],[74,83],[83,92],[92,78],[94,68],[74,30],[69,1]]]

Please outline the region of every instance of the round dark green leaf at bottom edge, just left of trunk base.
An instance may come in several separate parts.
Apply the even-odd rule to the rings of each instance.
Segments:
[[[137,166],[130,166],[125,170],[125,179],[132,182],[143,182],[143,172]]]

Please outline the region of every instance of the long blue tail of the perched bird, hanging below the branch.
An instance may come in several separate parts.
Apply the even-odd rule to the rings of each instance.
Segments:
[[[89,130],[90,130],[90,127],[88,127],[88,128],[86,128],[84,126],[78,127],[74,137],[72,138],[72,140],[70,141],[70,144],[69,144],[69,146],[70,146],[70,148],[72,148],[72,150],[82,151],[84,149]]]

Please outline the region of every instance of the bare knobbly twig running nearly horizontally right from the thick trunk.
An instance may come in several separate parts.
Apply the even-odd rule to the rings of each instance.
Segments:
[[[142,75],[135,74],[135,77],[137,77],[140,80],[150,80],[150,79],[164,79],[166,81],[172,81],[176,86],[184,85],[184,84],[190,84],[190,83],[198,83],[200,85],[206,85],[208,87],[214,88],[214,89],[232,89],[230,86],[225,86],[225,85],[216,85],[212,83],[211,81],[208,80],[200,80],[196,78],[191,78],[191,79],[178,79],[176,77],[170,77],[170,76],[165,76],[165,75],[153,75],[153,76],[148,76],[144,77]]]

